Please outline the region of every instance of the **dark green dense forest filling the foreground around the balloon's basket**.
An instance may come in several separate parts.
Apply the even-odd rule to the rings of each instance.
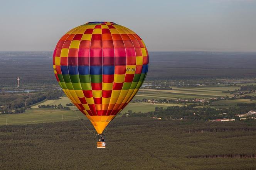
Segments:
[[[106,148],[98,149],[96,135],[78,120],[1,126],[0,169],[255,169],[255,127],[255,121],[116,118]]]

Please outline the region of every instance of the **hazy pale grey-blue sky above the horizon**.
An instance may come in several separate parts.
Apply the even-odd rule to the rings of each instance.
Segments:
[[[256,51],[256,0],[0,0],[0,51],[52,51],[92,21],[132,29],[149,51]]]

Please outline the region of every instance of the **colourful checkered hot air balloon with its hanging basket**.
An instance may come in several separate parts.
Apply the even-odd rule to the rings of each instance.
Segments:
[[[102,148],[104,129],[145,80],[148,51],[129,28],[88,22],[61,37],[53,68],[64,93],[93,124]]]

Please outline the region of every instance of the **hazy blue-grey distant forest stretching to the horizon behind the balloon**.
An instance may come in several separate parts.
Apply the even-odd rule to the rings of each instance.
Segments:
[[[255,52],[149,52],[146,81],[255,78],[255,55]],[[0,52],[0,73],[0,88],[17,87],[17,77],[20,88],[58,87],[52,70],[52,52]],[[170,87],[158,88],[170,90]]]

